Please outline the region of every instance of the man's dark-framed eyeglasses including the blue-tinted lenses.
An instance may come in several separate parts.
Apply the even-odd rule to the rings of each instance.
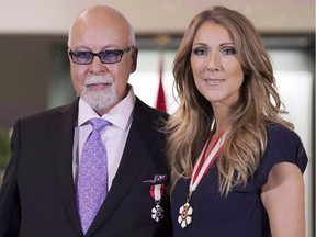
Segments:
[[[133,50],[135,46],[129,46],[123,49],[109,49],[99,53],[86,50],[69,50],[69,56],[74,64],[89,65],[93,61],[94,56],[98,56],[102,64],[115,64],[122,60],[125,53]]]

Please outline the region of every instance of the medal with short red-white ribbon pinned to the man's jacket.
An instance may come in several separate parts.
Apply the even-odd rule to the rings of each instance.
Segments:
[[[163,208],[160,206],[163,189],[163,183],[150,187],[150,195],[156,202],[156,206],[151,208],[151,218],[156,222],[160,222],[163,218]]]

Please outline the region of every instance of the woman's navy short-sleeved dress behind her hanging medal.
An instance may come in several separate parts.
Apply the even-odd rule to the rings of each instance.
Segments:
[[[192,194],[192,223],[182,228],[178,223],[179,208],[185,203],[190,180],[180,180],[171,195],[173,237],[268,237],[268,214],[260,190],[268,181],[272,167],[279,162],[297,165],[302,173],[307,156],[300,137],[280,125],[269,125],[268,145],[252,181],[236,187],[227,198],[218,194],[216,161]]]

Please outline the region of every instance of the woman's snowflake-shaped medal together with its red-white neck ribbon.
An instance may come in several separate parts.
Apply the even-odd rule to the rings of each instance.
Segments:
[[[222,145],[227,134],[228,134],[228,131],[226,131],[224,134],[218,136],[218,138],[214,143],[214,146],[211,148],[207,159],[205,160],[206,150],[211,143],[211,137],[210,137],[205,147],[203,148],[203,153],[201,154],[201,156],[198,159],[198,162],[194,166],[192,178],[190,180],[189,194],[187,198],[187,202],[184,203],[184,205],[182,205],[179,208],[178,223],[180,224],[182,228],[185,228],[193,222],[193,207],[190,204],[192,193],[195,191],[196,187],[199,185],[199,183],[201,182],[201,180],[203,179],[207,170],[212,167],[215,158],[218,156],[218,153],[222,148]],[[203,160],[205,160],[204,163],[203,163]]]

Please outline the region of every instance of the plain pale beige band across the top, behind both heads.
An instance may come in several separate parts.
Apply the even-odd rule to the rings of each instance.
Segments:
[[[0,34],[67,34],[82,10],[103,3],[120,10],[136,34],[182,33],[216,4],[240,11],[261,33],[315,32],[315,0],[2,0]]]

